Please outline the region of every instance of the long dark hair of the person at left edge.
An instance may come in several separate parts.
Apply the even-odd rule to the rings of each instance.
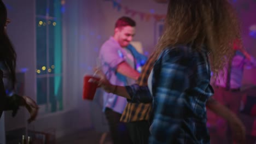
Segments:
[[[13,88],[16,82],[16,52],[5,32],[5,22],[7,20],[7,9],[0,0],[0,62],[3,62],[8,68],[10,75],[8,79],[12,82]]]

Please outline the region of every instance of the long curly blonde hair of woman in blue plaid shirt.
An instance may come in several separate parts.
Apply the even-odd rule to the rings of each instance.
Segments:
[[[241,44],[240,26],[228,0],[170,0],[155,56],[168,46],[193,44],[200,51],[205,45],[216,77],[234,56],[235,41]]]

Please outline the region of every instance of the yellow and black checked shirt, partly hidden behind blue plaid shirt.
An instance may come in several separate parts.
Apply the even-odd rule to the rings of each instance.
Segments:
[[[137,84],[139,86],[147,86],[148,85],[148,76],[151,70],[154,67],[156,59],[151,55],[144,65],[142,69],[142,73],[137,80]],[[135,122],[135,121],[148,121],[151,108],[152,101],[148,101],[148,103],[132,103],[131,100],[127,100],[128,103],[125,107],[125,110],[121,116],[121,122]]]

